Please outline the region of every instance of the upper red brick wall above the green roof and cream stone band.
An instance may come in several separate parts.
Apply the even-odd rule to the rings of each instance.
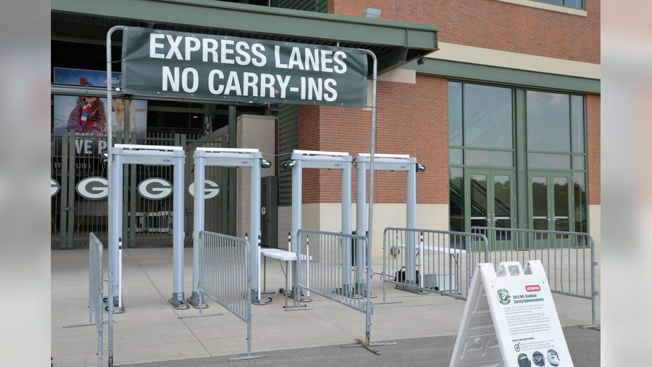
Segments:
[[[576,16],[497,0],[330,0],[333,14],[434,24],[439,40],[522,54],[600,63],[600,1],[586,0]]]

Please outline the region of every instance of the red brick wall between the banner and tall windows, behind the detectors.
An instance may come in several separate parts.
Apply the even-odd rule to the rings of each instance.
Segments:
[[[445,78],[417,75],[417,84],[378,82],[376,152],[417,157],[417,202],[448,203],[448,117]],[[299,148],[368,153],[371,112],[353,108],[301,106]],[[312,171],[312,172],[311,172]],[[406,200],[405,174],[376,172],[374,202]],[[340,202],[341,173],[304,170],[303,202]],[[355,201],[355,167],[353,171]]]

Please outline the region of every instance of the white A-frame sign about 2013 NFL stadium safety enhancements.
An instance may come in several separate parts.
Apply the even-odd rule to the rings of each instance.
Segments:
[[[541,261],[478,264],[450,367],[573,367]]]

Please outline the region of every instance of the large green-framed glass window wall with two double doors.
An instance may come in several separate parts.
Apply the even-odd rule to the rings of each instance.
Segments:
[[[584,95],[449,80],[447,97],[452,231],[587,231]]]

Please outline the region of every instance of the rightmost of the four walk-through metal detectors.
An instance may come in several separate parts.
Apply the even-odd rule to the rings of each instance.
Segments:
[[[405,171],[407,176],[406,191],[406,227],[417,228],[417,170],[423,172],[426,167],[417,163],[416,157],[410,157],[406,154],[374,154],[374,170],[385,171]],[[364,233],[366,223],[366,171],[370,169],[370,155],[361,153],[355,157],[356,172],[356,200],[355,200],[355,232]],[[411,237],[411,238],[410,238]],[[414,234],[408,234],[406,238],[408,244],[416,244]],[[407,244],[406,244],[407,245]],[[416,272],[416,252],[415,246],[406,246],[406,283],[402,286],[405,291],[421,293],[415,287],[409,285],[417,284]],[[364,248],[361,246],[355,249],[355,266],[364,266]],[[356,272],[355,289],[363,288],[363,272]],[[387,276],[387,274],[385,274]],[[397,286],[398,287],[398,286]]]

